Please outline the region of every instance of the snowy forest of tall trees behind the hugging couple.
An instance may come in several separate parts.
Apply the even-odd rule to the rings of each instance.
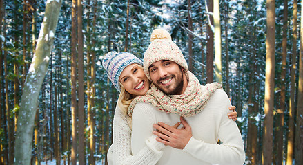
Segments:
[[[303,6],[292,0],[0,0],[0,164],[107,164],[101,61],[165,28],[237,111],[245,164],[303,164]]]

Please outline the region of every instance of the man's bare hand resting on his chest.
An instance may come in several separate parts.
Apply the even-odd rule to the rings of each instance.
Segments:
[[[158,136],[156,140],[173,148],[183,149],[193,135],[191,133],[191,127],[186,120],[182,117],[180,117],[180,120],[183,124],[182,129],[177,129],[177,127],[169,126],[163,122],[154,124],[154,128],[157,129],[157,131],[153,131],[153,134]]]

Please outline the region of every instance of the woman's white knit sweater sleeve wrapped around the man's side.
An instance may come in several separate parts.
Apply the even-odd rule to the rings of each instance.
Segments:
[[[159,144],[152,135],[146,140],[146,146],[137,154],[131,152],[131,129],[127,118],[116,107],[113,121],[113,144],[108,150],[108,164],[156,164],[162,156],[164,144]]]

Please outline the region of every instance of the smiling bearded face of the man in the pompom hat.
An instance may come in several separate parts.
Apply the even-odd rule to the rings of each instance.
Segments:
[[[177,63],[168,60],[157,61],[148,68],[150,78],[164,94],[182,94],[184,72]]]

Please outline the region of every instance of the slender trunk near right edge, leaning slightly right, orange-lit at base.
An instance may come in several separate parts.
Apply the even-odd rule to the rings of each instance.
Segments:
[[[291,92],[289,98],[289,137],[286,164],[293,164],[294,116],[295,116],[295,62],[297,56],[297,0],[293,1],[293,53],[291,54]]]

